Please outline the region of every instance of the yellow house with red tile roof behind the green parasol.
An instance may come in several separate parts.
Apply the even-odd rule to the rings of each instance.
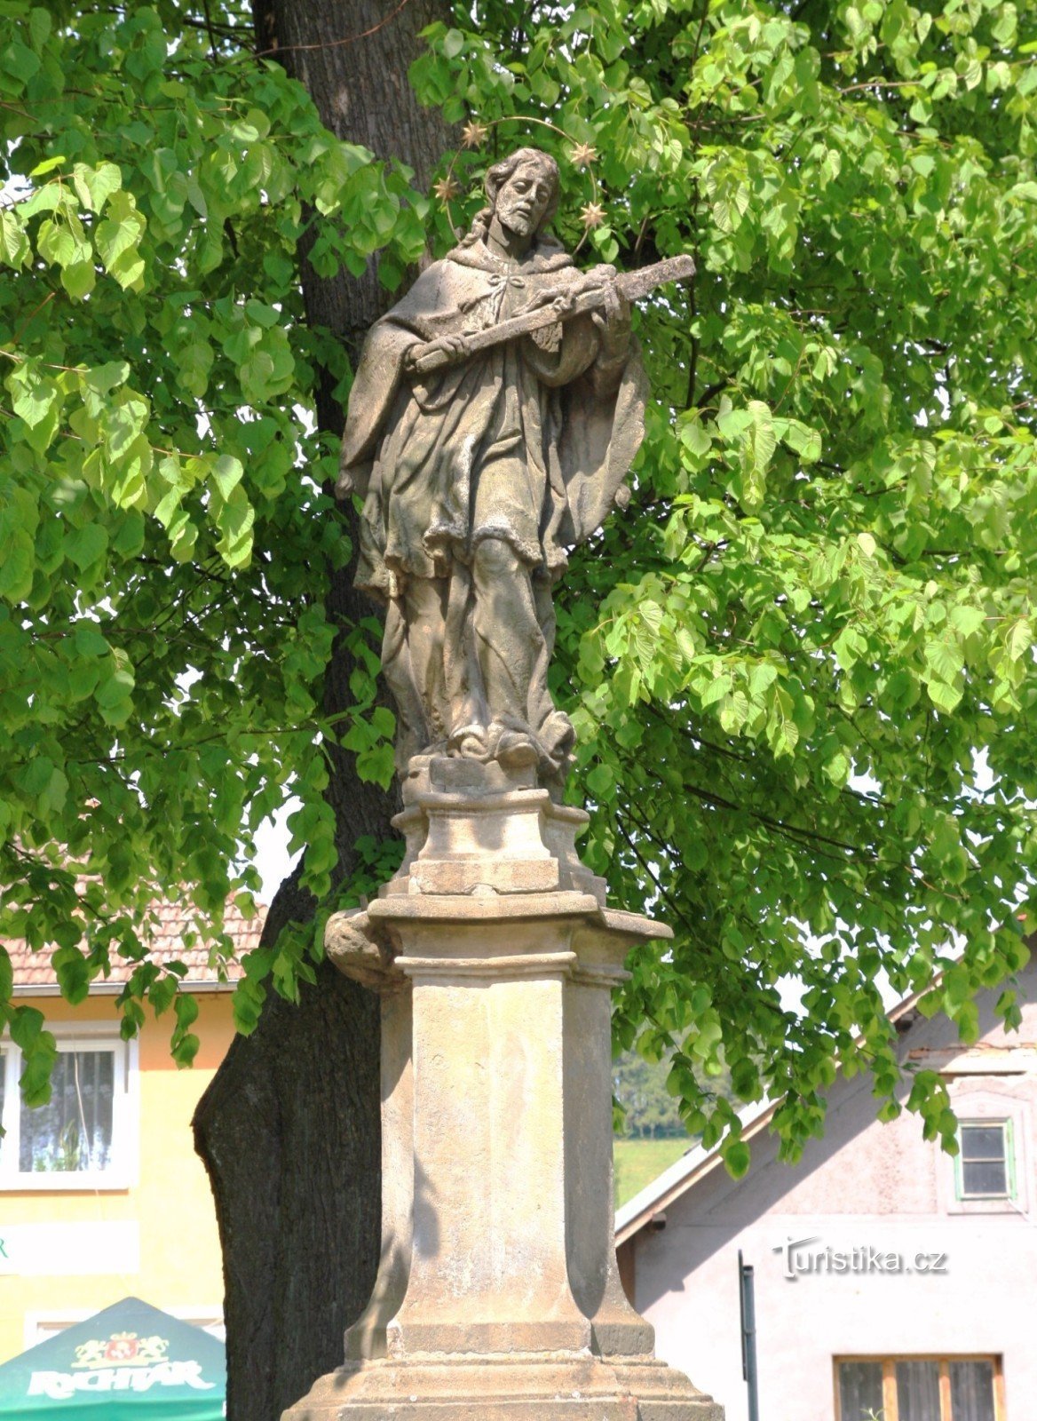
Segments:
[[[3,944],[16,1002],[44,1013],[58,1060],[50,1103],[30,1110],[18,1049],[0,1037],[0,1363],[126,1296],[222,1330],[216,1214],[190,1120],[233,1040],[230,998],[240,959],[259,945],[263,909],[244,918],[227,905],[229,963],[193,941],[180,907],[162,904],[155,917],[149,958],[183,962],[199,1005],[189,1070],[169,1054],[172,1013],[149,1013],[122,1040],[115,998],[134,963],[115,962],[72,1007],[51,951]]]

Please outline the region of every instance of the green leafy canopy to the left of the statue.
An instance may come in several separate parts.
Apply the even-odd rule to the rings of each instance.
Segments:
[[[348,369],[301,320],[297,252],[315,236],[317,270],[357,273],[379,249],[402,273],[428,203],[278,65],[213,60],[190,6],[6,0],[0,20],[0,932],[57,942],[72,1002],[114,951],[139,959],[125,1030],[175,1005],[186,1061],[195,1007],[176,965],[142,961],[149,907],[186,897],[210,931],[230,892],[249,909],[240,865],[288,786],[325,897],[328,737],[392,770],[378,624],[324,608],[349,543],[313,389]],[[367,671],[328,725],[337,631]],[[305,942],[250,963],[243,1029],[264,978],[297,990]],[[3,1010],[43,1098],[53,1040]]]

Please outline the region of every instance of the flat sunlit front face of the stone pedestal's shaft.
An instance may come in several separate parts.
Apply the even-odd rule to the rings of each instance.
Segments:
[[[487,945],[499,935],[486,932]],[[571,961],[398,959],[415,983],[415,1226],[392,1356],[590,1341],[565,1258],[560,1083]]]

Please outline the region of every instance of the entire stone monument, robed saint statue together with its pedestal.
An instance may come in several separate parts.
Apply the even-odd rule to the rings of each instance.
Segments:
[[[520,149],[487,196],[372,328],[349,402],[406,848],[327,946],[381,996],[382,1253],[345,1364],[284,1421],[722,1421],[619,1282],[609,995],[670,934],[580,861],[547,689],[551,585],[619,496],[641,362],[615,271],[544,232],[554,161]]]

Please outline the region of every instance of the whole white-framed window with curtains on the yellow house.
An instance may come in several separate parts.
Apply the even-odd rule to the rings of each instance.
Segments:
[[[51,1098],[21,1100],[21,1052],[0,1052],[0,1188],[121,1189],[129,1184],[136,1084],[136,1043],[109,1026],[58,1037]]]

